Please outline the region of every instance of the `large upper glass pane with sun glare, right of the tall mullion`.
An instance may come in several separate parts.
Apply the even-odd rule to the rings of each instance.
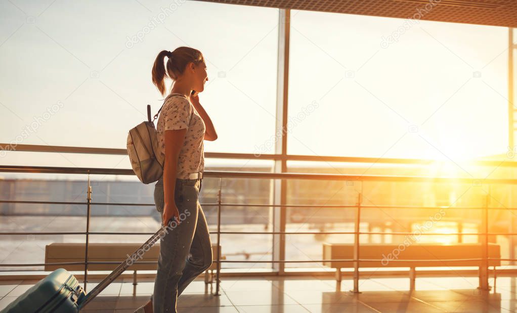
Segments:
[[[506,152],[508,29],[414,22],[292,11],[289,154]]]

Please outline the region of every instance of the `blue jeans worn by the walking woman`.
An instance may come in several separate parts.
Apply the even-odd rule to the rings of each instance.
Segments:
[[[160,239],[154,294],[155,313],[176,313],[177,297],[212,264],[212,246],[205,214],[199,204],[201,179],[176,178],[174,201],[181,223]],[[156,209],[163,213],[163,178],[155,185]],[[162,216],[163,218],[163,216]]]

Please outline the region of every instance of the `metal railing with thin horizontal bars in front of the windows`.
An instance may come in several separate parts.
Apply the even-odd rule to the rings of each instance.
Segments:
[[[0,145],[1,146],[1,145]],[[45,146],[46,147],[46,146]],[[48,147],[47,147],[48,149]],[[83,148],[86,149],[86,148]],[[57,149],[56,149],[57,150]],[[94,149],[95,150],[95,149]],[[116,150],[116,149],[115,149]],[[32,150],[31,150],[32,151]],[[55,150],[48,151],[54,152]],[[60,151],[63,151],[61,149]],[[66,151],[66,149],[65,149]],[[89,151],[89,150],[88,150]],[[68,151],[70,152],[70,151]],[[121,151],[118,151],[120,153]],[[84,152],[86,153],[86,152]],[[124,151],[125,153],[125,151]],[[240,155],[234,155],[231,153],[225,153],[227,158],[236,159]],[[271,158],[276,158],[276,156],[271,156]],[[339,158],[338,158],[339,159]],[[360,158],[353,158],[355,162],[359,162]],[[369,159],[369,158],[365,158]],[[390,159],[388,163],[403,163],[402,159]],[[368,162],[366,160],[362,160],[363,162]],[[377,162],[382,162],[376,160]],[[426,164],[427,161],[420,160],[419,164]],[[478,163],[488,162],[484,165],[500,165],[500,162],[493,163],[492,161],[481,161]],[[383,162],[384,163],[384,162]],[[516,166],[517,162],[508,162],[504,166]],[[478,164],[483,165],[483,164]],[[86,279],[88,273],[88,265],[89,264],[116,264],[117,262],[94,262],[88,260],[88,246],[89,246],[89,235],[114,235],[114,234],[152,234],[151,232],[92,232],[89,231],[89,222],[90,222],[90,213],[91,207],[93,205],[107,205],[107,206],[155,206],[154,204],[131,204],[131,203],[110,203],[110,202],[93,202],[92,201],[92,186],[90,184],[90,175],[95,174],[104,174],[104,175],[134,175],[131,169],[108,169],[108,168],[73,168],[73,167],[41,167],[41,166],[0,166],[0,172],[10,172],[10,173],[53,173],[53,174],[86,174],[88,176],[87,180],[87,197],[86,202],[70,202],[70,201],[22,201],[22,200],[0,200],[0,203],[13,203],[13,204],[74,204],[74,205],[85,205],[87,207],[86,214],[86,230],[84,232],[0,232],[0,236],[4,235],[42,235],[42,234],[78,234],[84,235],[85,242],[85,260],[84,262],[63,262],[63,263],[34,263],[34,264],[0,264],[0,267],[29,267],[29,266],[42,266],[42,265],[78,265],[84,264],[84,281],[86,287]],[[359,224],[361,221],[361,210],[362,209],[375,209],[375,208],[386,208],[386,209],[440,209],[440,208],[448,208],[453,210],[461,210],[461,209],[476,209],[482,210],[482,231],[477,233],[447,233],[447,236],[458,235],[458,236],[467,236],[467,235],[476,235],[481,238],[481,247],[482,247],[482,257],[481,258],[465,258],[465,259],[457,259],[463,261],[480,261],[480,288],[481,289],[489,289],[488,285],[488,262],[489,260],[499,260],[499,261],[517,261],[514,258],[489,258],[488,256],[488,245],[489,240],[488,236],[493,236],[497,234],[501,235],[517,235],[517,233],[512,232],[494,232],[490,233],[488,231],[488,211],[491,209],[501,209],[501,208],[490,208],[489,207],[489,199],[490,194],[486,195],[486,199],[482,206],[480,207],[426,207],[426,206],[367,206],[362,204],[362,182],[364,181],[385,181],[385,182],[453,182],[455,184],[458,183],[480,183],[482,181],[485,184],[517,184],[517,180],[514,179],[470,179],[470,178],[444,178],[444,177],[409,177],[409,176],[379,176],[379,175],[333,175],[333,174],[295,174],[295,173],[256,173],[256,172],[235,172],[235,171],[205,171],[204,176],[206,178],[216,178],[219,179],[219,190],[218,190],[218,200],[216,203],[203,203],[202,206],[216,206],[217,207],[217,231],[211,232],[217,234],[217,246],[220,246],[220,236],[221,234],[279,234],[284,236],[285,234],[353,234],[354,235],[354,257],[352,259],[322,259],[322,260],[283,260],[283,259],[273,259],[273,260],[221,260],[221,252],[218,249],[218,254],[216,256],[216,260],[213,260],[217,263],[216,270],[216,292],[215,294],[219,294],[219,283],[220,283],[220,271],[221,271],[221,263],[308,263],[308,262],[328,262],[328,261],[350,261],[354,264],[354,292],[359,291],[358,281],[359,281],[359,268],[360,262],[365,261],[379,261],[379,259],[361,259],[359,256],[359,237],[362,234],[393,234],[393,235],[409,235],[413,234],[412,232],[374,232],[374,231],[360,231]],[[358,193],[357,204],[355,205],[286,205],[286,204],[232,204],[232,203],[223,203],[222,202],[222,179],[223,178],[246,178],[246,179],[296,179],[296,180],[339,180],[339,181],[358,181],[361,182],[361,191]],[[334,208],[334,209],[354,209],[355,210],[355,220],[354,220],[354,231],[305,231],[305,232],[297,232],[297,231],[263,231],[263,232],[254,232],[254,231],[221,231],[221,207],[223,206],[240,206],[240,207],[269,207],[272,209],[286,209],[286,208]],[[508,210],[517,210],[517,208],[507,208]],[[284,221],[285,223],[285,221]],[[427,233],[426,235],[440,235],[443,236],[443,233]],[[273,243],[274,245],[274,243]],[[440,259],[430,259],[430,260],[390,260],[390,262],[442,262]],[[456,261],[456,260],[447,260],[447,261]],[[138,261],[135,263],[155,263],[155,262],[147,262],[147,261]],[[338,269],[340,270],[340,269]]]

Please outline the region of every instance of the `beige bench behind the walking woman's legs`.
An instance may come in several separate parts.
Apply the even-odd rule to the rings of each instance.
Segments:
[[[88,245],[89,262],[117,262],[114,264],[89,264],[88,271],[112,271],[118,263],[123,262],[132,255],[141,243],[90,243]],[[219,246],[220,247],[220,246]],[[84,262],[84,243],[51,243],[45,246],[45,263],[63,262]],[[212,244],[212,253],[217,256],[218,248]],[[158,267],[158,256],[160,255],[160,244],[155,244],[147,251],[139,261],[150,261],[148,264],[132,264],[128,270],[133,272],[133,285],[136,285],[136,271],[156,270]],[[221,260],[226,259],[220,257]],[[68,271],[84,271],[83,264],[76,265],[45,265],[45,271],[54,271],[65,267]],[[212,283],[214,270],[217,270],[217,263],[214,262],[205,271],[205,284]]]

